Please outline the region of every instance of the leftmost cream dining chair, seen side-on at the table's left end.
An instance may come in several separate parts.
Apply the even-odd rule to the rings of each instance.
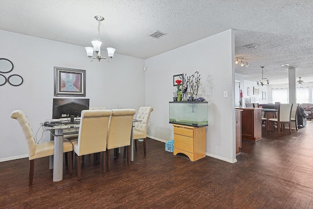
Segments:
[[[34,160],[37,158],[43,158],[50,155],[53,155],[54,151],[54,144],[53,141],[47,141],[40,144],[36,144],[35,138],[33,136],[33,130],[30,127],[30,124],[22,110],[15,110],[11,113],[11,118],[17,119],[22,131],[24,133],[27,147],[28,147],[28,159],[30,163],[29,168],[29,186],[33,184],[33,177],[34,177]],[[63,152],[69,152],[69,174],[72,174],[72,159],[71,159],[71,152],[73,151],[72,144],[67,140],[64,139],[63,143]]]

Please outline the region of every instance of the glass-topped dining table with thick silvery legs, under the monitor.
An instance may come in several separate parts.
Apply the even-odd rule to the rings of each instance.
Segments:
[[[134,122],[140,122],[141,120],[133,119]],[[50,126],[43,126],[45,130],[51,132],[54,142],[54,153],[50,156],[49,168],[53,169],[53,182],[59,182],[63,180],[63,139],[64,135],[78,134],[79,123],[70,122],[59,122],[55,124],[50,124]],[[131,161],[134,161],[134,139],[133,139],[133,129],[131,132]]]

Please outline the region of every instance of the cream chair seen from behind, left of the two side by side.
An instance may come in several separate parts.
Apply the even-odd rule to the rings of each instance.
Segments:
[[[107,148],[107,134],[111,110],[83,110],[80,118],[78,139],[70,142],[73,150],[78,155],[77,178],[81,179],[82,156],[103,152],[102,171],[105,172]]]

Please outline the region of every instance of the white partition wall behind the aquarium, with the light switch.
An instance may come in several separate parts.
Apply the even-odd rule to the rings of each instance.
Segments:
[[[154,107],[149,135],[171,140],[169,101],[173,101],[173,75],[201,73],[198,97],[208,101],[206,154],[230,163],[236,162],[234,107],[234,33],[229,29],[200,41],[146,59],[146,105]],[[223,92],[228,92],[228,98]]]

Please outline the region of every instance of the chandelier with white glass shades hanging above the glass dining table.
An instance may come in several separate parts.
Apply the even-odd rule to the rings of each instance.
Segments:
[[[101,56],[100,46],[101,46],[102,42],[100,42],[100,22],[103,21],[104,18],[102,16],[97,15],[94,17],[94,19],[96,19],[99,22],[98,23],[98,41],[92,41],[91,42],[93,47],[85,47],[86,52],[87,52],[87,56],[89,57],[90,62],[92,62],[93,59],[98,59],[99,62],[101,59],[107,59],[108,62],[111,62],[111,58],[114,55],[115,48],[111,48],[111,47],[107,48],[108,58]],[[96,55],[97,55],[96,57],[92,57],[93,51],[96,52]]]

